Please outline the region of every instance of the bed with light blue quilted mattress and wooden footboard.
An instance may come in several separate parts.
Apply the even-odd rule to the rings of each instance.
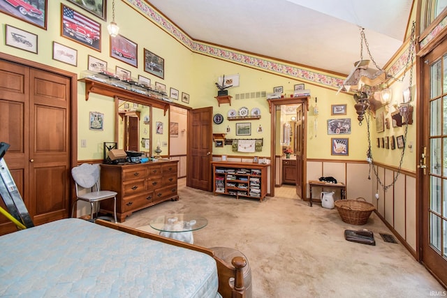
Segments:
[[[66,218],[1,236],[0,297],[244,297],[243,258],[233,266],[207,248],[96,223]]]

